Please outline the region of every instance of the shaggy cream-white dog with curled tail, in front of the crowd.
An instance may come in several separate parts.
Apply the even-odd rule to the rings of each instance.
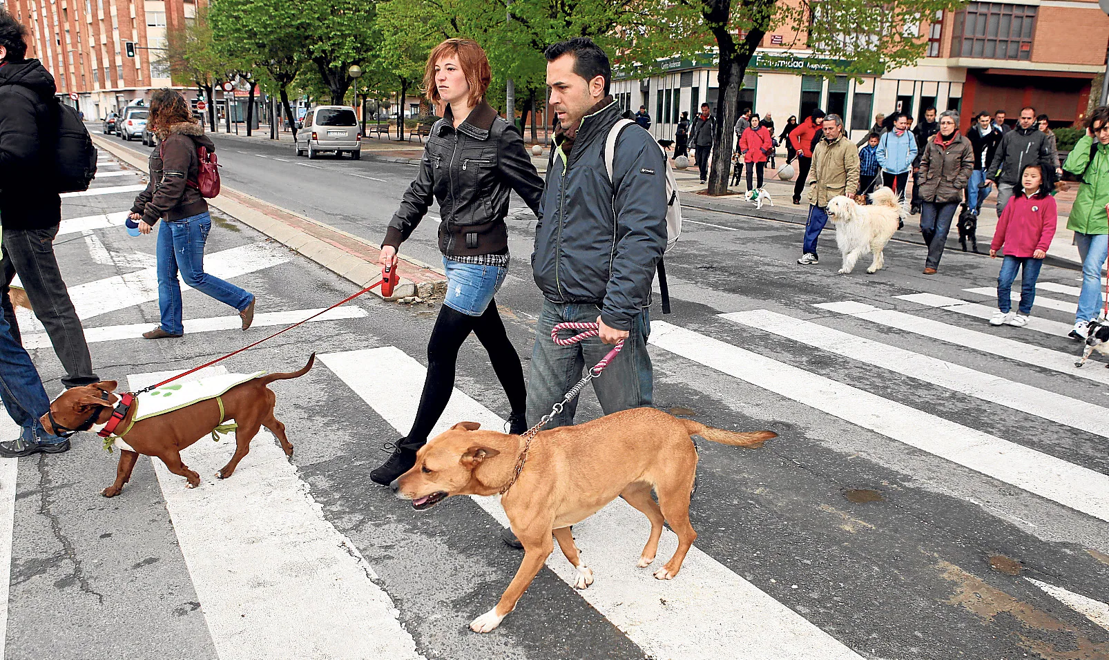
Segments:
[[[844,195],[828,200],[828,217],[835,222],[835,242],[843,254],[841,275],[851,273],[858,257],[868,252],[874,255],[874,263],[866,268],[867,273],[885,266],[882,251],[897,226],[908,217],[908,210],[888,187],[879,187],[868,196],[871,203],[867,205]]]

